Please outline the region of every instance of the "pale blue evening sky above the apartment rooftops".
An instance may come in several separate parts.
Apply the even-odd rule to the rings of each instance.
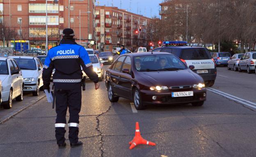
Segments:
[[[162,0],[96,0],[96,5],[111,7],[112,2],[114,7],[120,8],[121,2],[121,9],[151,18],[154,15],[159,16],[159,3]]]

